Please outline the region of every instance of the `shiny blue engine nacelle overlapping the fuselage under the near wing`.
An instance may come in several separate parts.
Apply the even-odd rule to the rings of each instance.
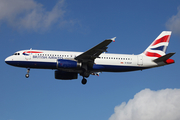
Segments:
[[[58,59],[57,68],[80,68],[81,63],[73,60]]]

